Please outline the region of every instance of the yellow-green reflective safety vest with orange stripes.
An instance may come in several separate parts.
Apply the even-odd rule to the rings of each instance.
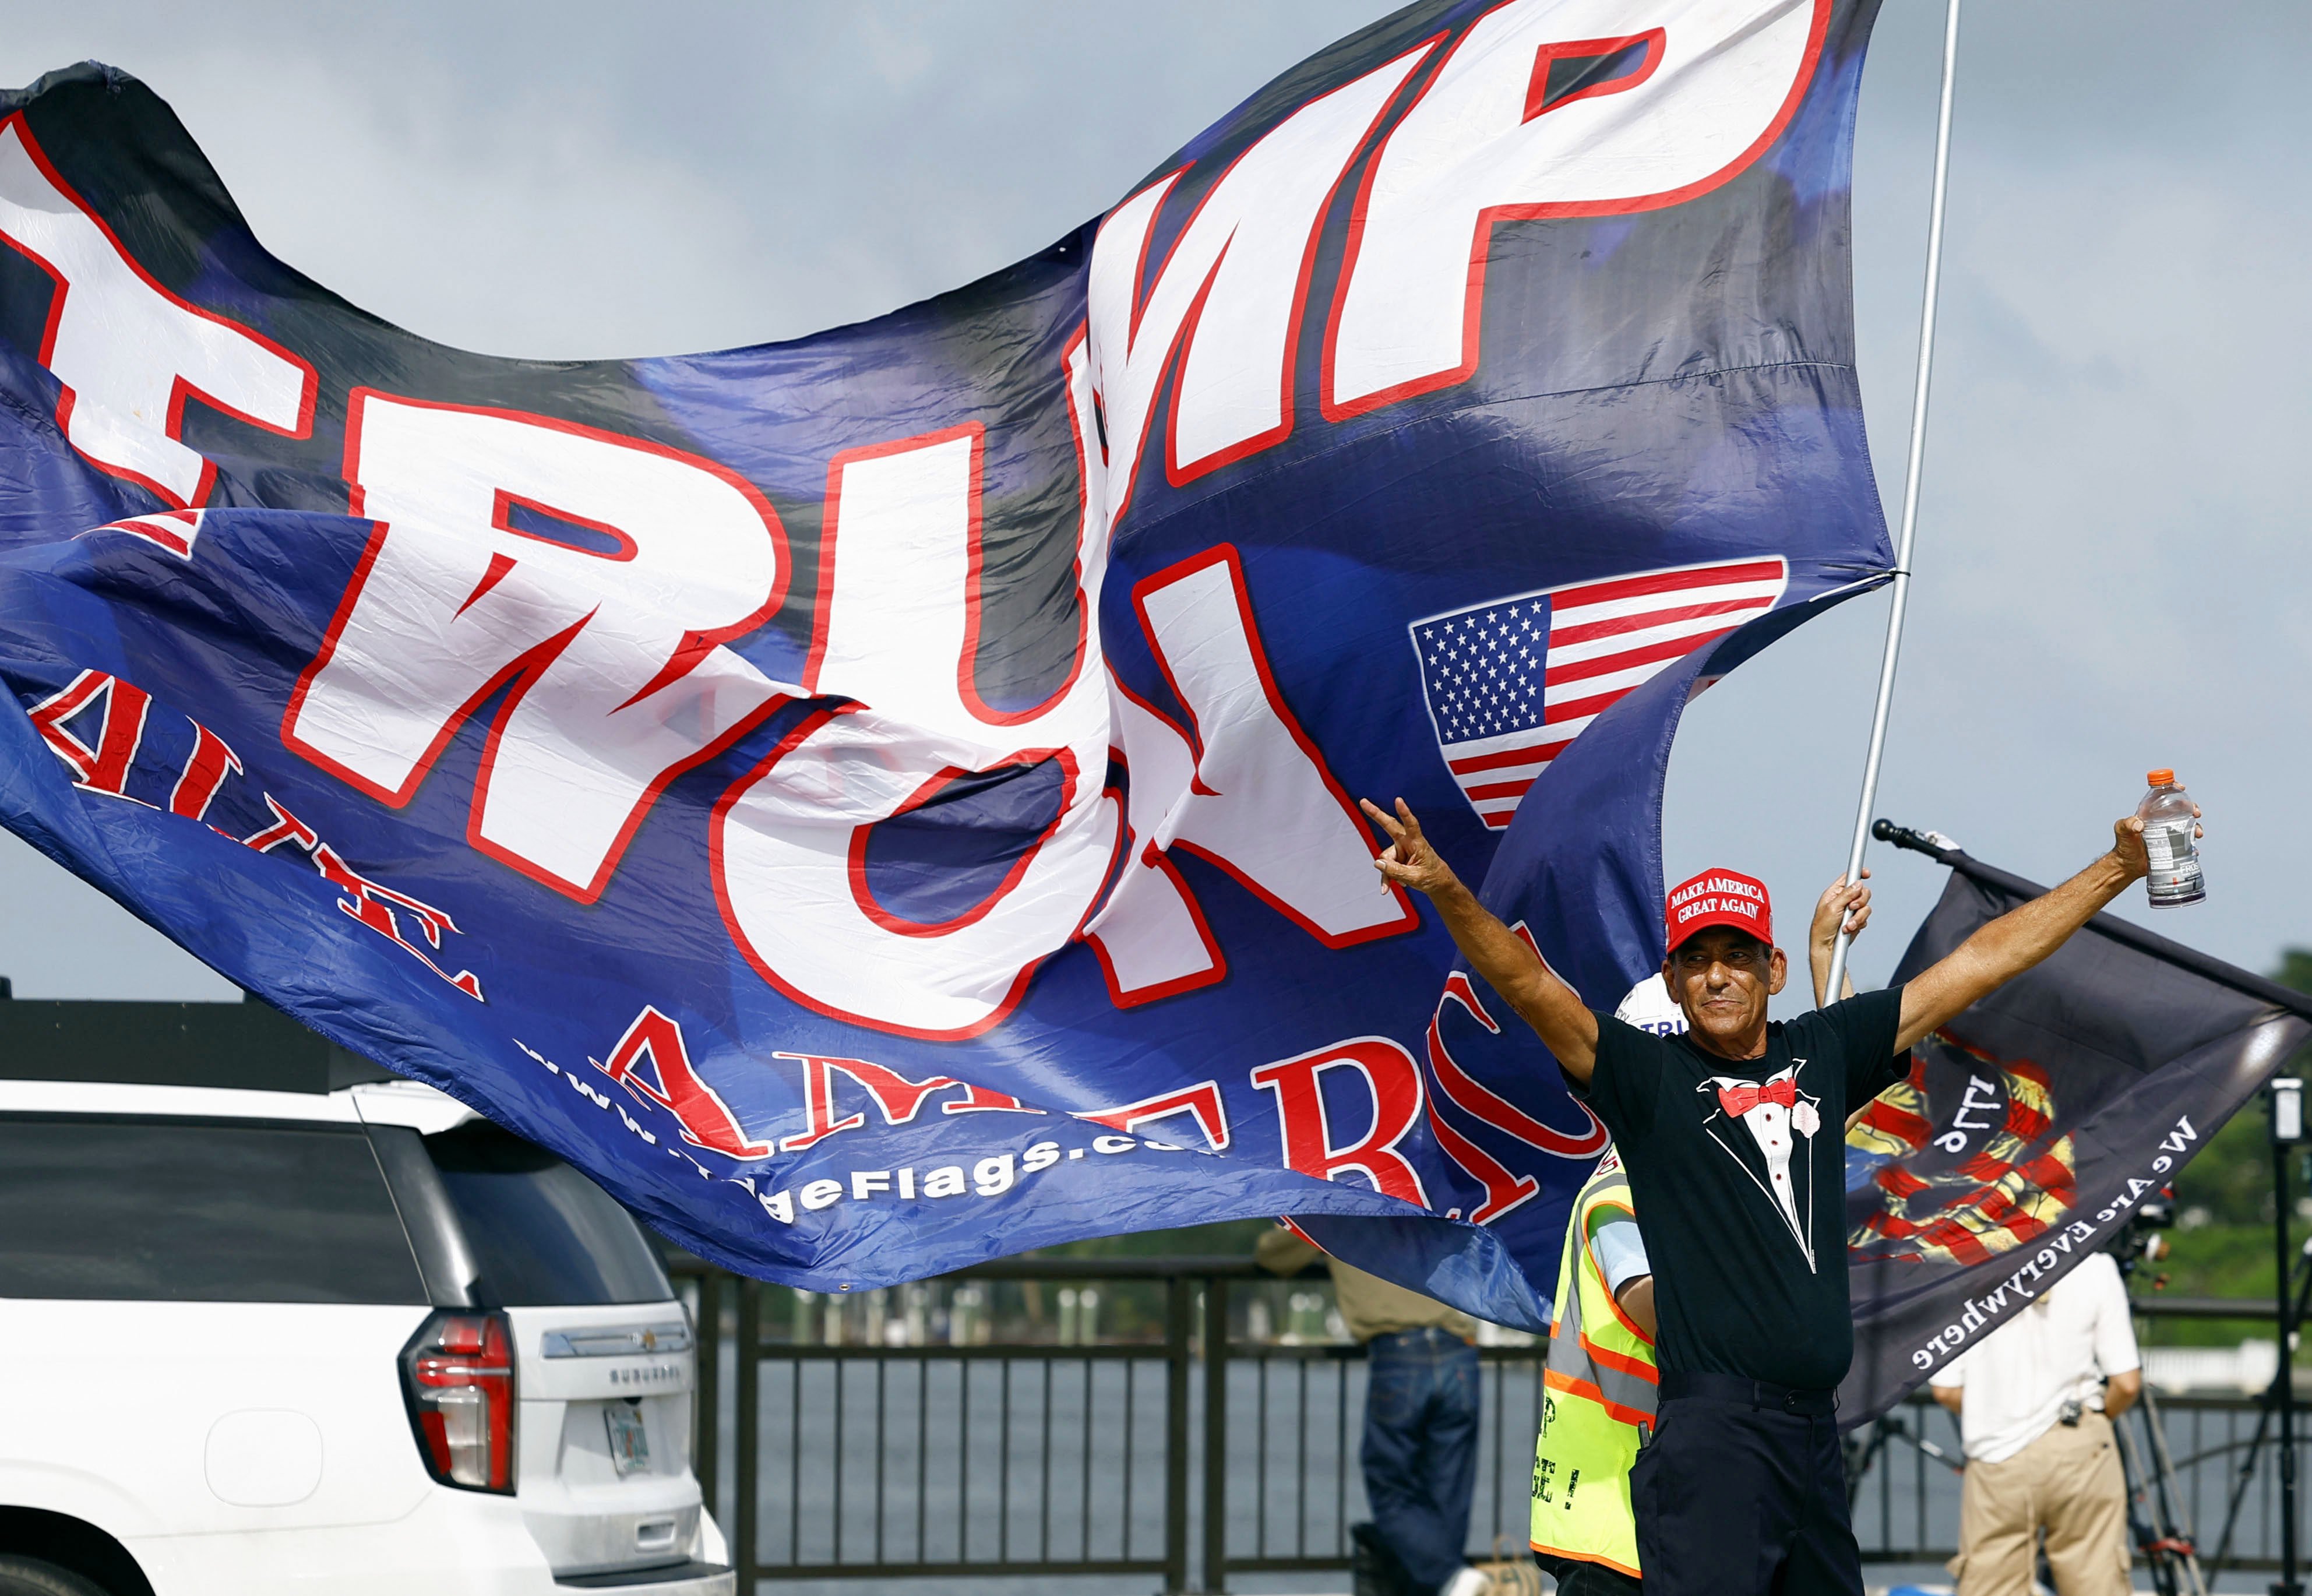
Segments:
[[[1558,1321],[1542,1367],[1542,1434],[1533,1443],[1533,1550],[1639,1577],[1630,1464],[1653,1429],[1653,1342],[1607,1288],[1591,1235],[1630,1207],[1630,1177],[1607,1147],[1574,1196],[1558,1261]]]

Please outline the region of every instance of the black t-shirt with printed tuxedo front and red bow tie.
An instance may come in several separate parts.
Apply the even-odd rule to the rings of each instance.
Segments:
[[[1574,1094],[1630,1170],[1662,1369],[1845,1379],[1845,1122],[1900,1076],[1900,1013],[1903,988],[1861,992],[1769,1025],[1748,1062],[1598,1015],[1598,1071]]]

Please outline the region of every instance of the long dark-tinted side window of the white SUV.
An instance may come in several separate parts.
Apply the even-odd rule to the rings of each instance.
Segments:
[[[0,1295],[425,1302],[358,1126],[0,1115]]]

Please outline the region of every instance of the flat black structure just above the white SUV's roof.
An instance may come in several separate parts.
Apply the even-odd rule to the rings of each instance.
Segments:
[[[257,995],[238,1004],[132,1004],[25,999],[0,988],[0,1080],[319,1094],[400,1076]]]

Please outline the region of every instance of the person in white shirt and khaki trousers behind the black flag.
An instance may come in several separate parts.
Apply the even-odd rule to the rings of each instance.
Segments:
[[[2127,1286],[2095,1254],[1933,1376],[1968,1448],[1958,1596],[2025,1596],[2039,1531],[2062,1596],[2125,1596],[2127,1483],[2111,1420],[2143,1392]]]

